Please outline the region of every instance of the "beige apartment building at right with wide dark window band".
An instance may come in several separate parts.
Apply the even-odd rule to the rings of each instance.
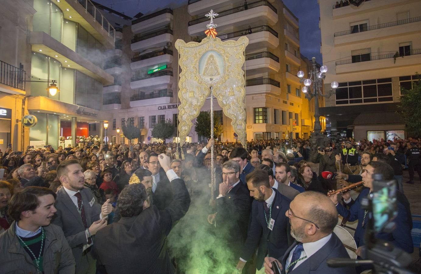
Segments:
[[[402,136],[405,124],[395,112],[400,88],[412,88],[421,70],[421,1],[335,3],[319,0],[321,52],[329,67],[325,88],[339,82],[320,110],[327,130],[357,140],[386,139],[396,130]]]

